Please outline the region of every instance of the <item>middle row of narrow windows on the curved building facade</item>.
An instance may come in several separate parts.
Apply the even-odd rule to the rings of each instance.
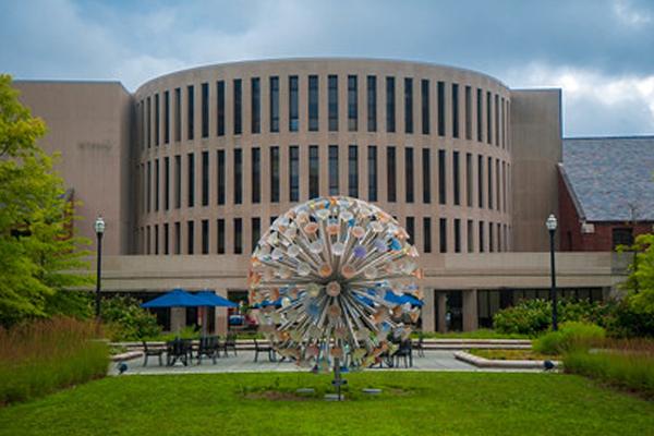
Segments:
[[[378,147],[376,145],[367,146],[365,156],[361,155],[361,147],[350,145],[347,147],[347,156],[341,157],[343,148],[338,145],[329,145],[327,147],[327,166],[328,180],[326,190],[328,195],[347,194],[352,197],[367,196],[370,202],[378,202],[378,178],[380,173]],[[431,148],[413,148],[403,147],[403,160],[398,158],[398,148],[395,146],[384,147],[386,153],[386,168],[383,170],[386,174],[386,191],[385,201],[395,203],[398,201],[398,166],[404,168],[404,201],[405,203],[416,202],[416,184],[415,173],[420,180],[420,193],[422,194],[422,203],[432,203],[432,171],[433,160],[437,161],[437,181],[438,204],[452,204],[455,206],[465,205],[468,207],[487,207],[507,213],[507,192],[509,191],[508,183],[510,182],[510,167],[504,160],[483,155],[473,155],[472,153],[447,152],[438,149],[436,156],[432,156]],[[249,179],[244,180],[244,152],[250,153]],[[227,156],[230,152],[231,156]],[[267,148],[268,155],[268,173],[269,179],[262,180],[262,153],[266,149],[261,147],[252,147],[249,149],[233,148],[230,150],[218,149],[216,155],[211,156],[209,152],[201,152],[201,186],[199,205],[208,206],[210,202],[210,191],[215,187],[215,198],[211,201],[217,205],[226,205],[228,203],[228,191],[231,192],[231,204],[238,205],[243,203],[243,186],[244,183],[250,183],[251,198],[253,204],[262,202],[262,186],[267,186],[269,190],[270,203],[279,203],[281,198],[281,154],[279,146],[270,146]],[[290,202],[300,201],[300,146],[291,145],[288,147],[288,198]],[[421,171],[416,171],[416,152],[421,154],[420,166]],[[324,153],[324,152],[323,152]],[[320,153],[317,145],[310,145],[308,153],[305,154],[306,161],[302,165],[307,166],[307,190],[308,196],[304,199],[314,198],[320,195]],[[182,162],[182,159],[185,162]],[[229,164],[228,164],[229,159]],[[341,159],[344,160],[341,164]],[[359,160],[365,159],[367,181],[365,189],[362,189],[362,181],[359,174]],[[195,173],[196,154],[189,153],[186,155],[167,156],[159,159],[154,159],[140,165],[140,183],[143,190],[143,211],[169,210],[171,208],[182,207],[182,179],[185,183],[185,204],[184,207],[196,206],[196,173]],[[451,164],[448,162],[451,160]],[[182,171],[182,166],[186,166],[185,173]],[[211,182],[210,166],[216,166],[216,180]],[[227,170],[230,166],[232,174],[231,186],[228,190]],[[451,171],[450,171],[451,169]],[[340,171],[347,171],[347,186],[341,186]],[[264,183],[262,183],[264,182]],[[161,190],[162,183],[164,190]],[[448,198],[448,183],[452,185],[451,198]],[[476,198],[474,198],[473,186],[476,183]],[[160,198],[160,195],[162,198]]]

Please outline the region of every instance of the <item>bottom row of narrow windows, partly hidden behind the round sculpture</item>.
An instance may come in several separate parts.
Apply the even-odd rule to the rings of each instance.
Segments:
[[[270,217],[270,223],[277,217]],[[509,250],[509,231],[510,228],[506,223],[476,221],[472,219],[462,220],[459,218],[447,219],[432,217],[422,218],[422,252],[423,253],[484,253],[484,252],[505,252]],[[199,243],[196,247],[196,222],[199,222]],[[417,244],[415,241],[416,219],[415,217],[407,217],[404,222],[410,241]],[[452,226],[448,229],[448,226]],[[436,228],[437,227],[437,228]],[[185,246],[182,246],[182,231],[185,231]],[[433,234],[438,233],[438,245],[433,245]],[[451,233],[450,233],[451,231]],[[138,229],[141,233],[137,240],[141,242],[140,253],[142,254],[209,254],[210,229],[209,220],[203,219],[199,221],[189,220],[185,222],[173,222],[164,225],[145,226]],[[161,233],[160,233],[161,232]],[[227,234],[231,233],[232,245],[231,253],[243,254],[244,246],[244,230],[243,218],[233,218],[232,228],[228,232],[226,229],[226,219],[219,218],[216,220],[216,227],[213,229],[216,238],[215,253],[227,253]],[[453,235],[451,243],[448,243],[448,234]],[[254,217],[251,219],[250,227],[250,251],[254,251],[262,235],[262,219]],[[475,246],[476,243],[476,246]],[[161,245],[160,245],[161,244]]]

